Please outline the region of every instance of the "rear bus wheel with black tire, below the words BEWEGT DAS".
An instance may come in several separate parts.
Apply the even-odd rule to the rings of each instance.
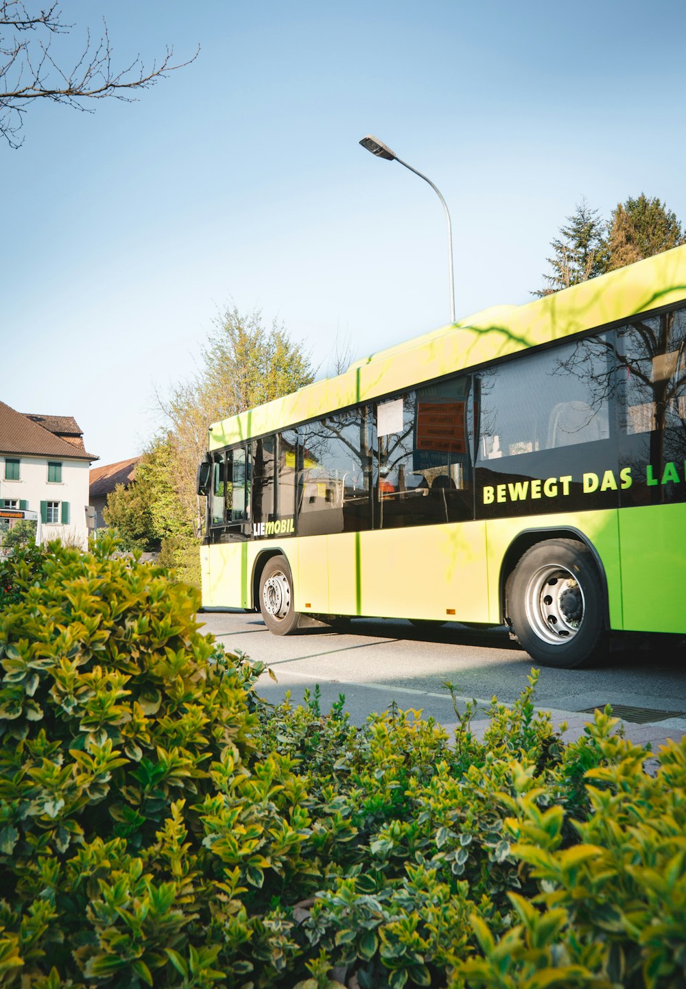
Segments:
[[[520,645],[537,663],[590,665],[604,631],[604,593],[591,551],[573,539],[527,550],[512,574],[509,611]]]

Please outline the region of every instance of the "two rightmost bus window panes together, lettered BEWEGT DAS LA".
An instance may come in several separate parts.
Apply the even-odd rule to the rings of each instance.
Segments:
[[[478,377],[477,517],[686,500],[686,307]]]

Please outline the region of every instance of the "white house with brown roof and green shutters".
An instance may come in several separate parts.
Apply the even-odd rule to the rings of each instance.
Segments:
[[[40,511],[44,541],[86,546],[87,453],[70,415],[17,412],[0,402],[0,506]]]

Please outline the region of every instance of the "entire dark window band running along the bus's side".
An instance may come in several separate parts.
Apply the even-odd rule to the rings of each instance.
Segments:
[[[686,500],[685,348],[672,307],[252,440],[241,504],[227,454],[225,524],[336,534]]]

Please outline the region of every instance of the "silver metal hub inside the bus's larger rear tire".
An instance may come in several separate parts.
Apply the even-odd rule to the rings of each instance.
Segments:
[[[531,627],[544,642],[561,646],[577,634],[584,620],[581,584],[566,567],[547,564],[534,574],[525,595]]]

